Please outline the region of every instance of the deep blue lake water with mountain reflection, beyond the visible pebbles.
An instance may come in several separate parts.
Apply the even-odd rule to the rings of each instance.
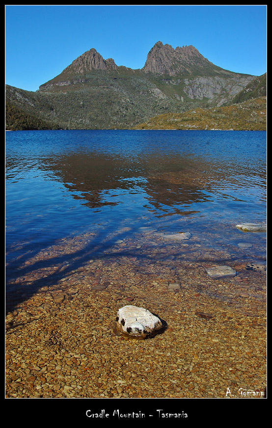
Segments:
[[[190,232],[192,251],[265,259],[265,234],[235,225],[266,222],[266,132],[18,131],[5,151],[10,283],[27,257],[88,233],[100,254]]]

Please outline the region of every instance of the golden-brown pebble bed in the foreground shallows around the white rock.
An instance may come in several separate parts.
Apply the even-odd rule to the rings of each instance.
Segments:
[[[88,253],[91,240],[63,239],[30,255],[8,284],[6,398],[263,396],[265,268],[194,237],[165,242],[147,231]],[[209,277],[221,260],[237,275]],[[116,335],[125,305],[167,327],[146,340]]]

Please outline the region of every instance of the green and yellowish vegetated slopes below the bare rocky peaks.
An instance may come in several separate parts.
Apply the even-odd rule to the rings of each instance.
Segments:
[[[226,87],[235,90],[240,78],[183,78],[120,67],[36,92],[6,85],[6,129],[266,129],[264,111],[235,104],[266,95],[266,74],[237,95]]]

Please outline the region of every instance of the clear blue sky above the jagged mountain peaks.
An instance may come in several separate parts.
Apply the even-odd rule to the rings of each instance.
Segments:
[[[5,82],[28,91],[95,48],[142,68],[158,41],[193,45],[215,65],[267,71],[267,5],[5,5]]]

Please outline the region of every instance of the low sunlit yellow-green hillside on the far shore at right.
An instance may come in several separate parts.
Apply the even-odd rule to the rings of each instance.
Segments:
[[[135,129],[266,131],[266,113],[266,97],[261,97],[226,107],[161,114]]]

